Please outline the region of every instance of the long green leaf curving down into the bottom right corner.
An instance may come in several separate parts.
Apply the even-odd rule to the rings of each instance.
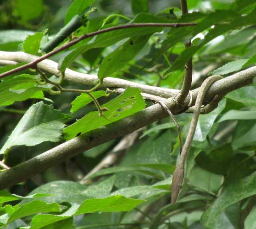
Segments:
[[[214,204],[202,215],[206,228],[213,228],[223,210],[236,202],[256,194],[256,172],[246,178],[234,180],[226,187]]]

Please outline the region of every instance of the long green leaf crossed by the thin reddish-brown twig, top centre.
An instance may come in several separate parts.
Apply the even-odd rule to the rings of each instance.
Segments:
[[[155,17],[150,13],[140,13],[130,23],[147,23],[147,22],[148,23],[149,22],[168,23],[169,21]],[[102,29],[105,29],[108,27],[109,25],[105,26]],[[61,72],[63,72],[67,68],[67,66],[74,61],[76,57],[80,56],[81,54],[88,51],[89,49],[103,48],[110,45],[114,45],[116,42],[124,38],[129,38],[134,36],[139,37],[146,34],[152,34],[154,32],[161,32],[161,31],[162,31],[162,28],[159,28],[159,27],[141,27],[141,28],[139,27],[139,28],[128,28],[128,29],[116,30],[116,31],[99,34],[95,39],[90,40],[88,44],[82,45],[74,49],[74,51],[69,53],[66,57],[62,58],[59,61],[58,68]]]

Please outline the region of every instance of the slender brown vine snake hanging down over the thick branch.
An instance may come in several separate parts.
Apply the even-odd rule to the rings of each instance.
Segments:
[[[189,153],[189,148],[190,148],[192,140],[194,138],[195,128],[196,128],[197,121],[199,118],[200,109],[201,109],[204,95],[206,94],[207,90],[212,85],[212,83],[214,83],[215,81],[220,80],[220,79],[222,79],[222,76],[209,76],[202,83],[202,85],[199,89],[199,93],[198,93],[198,95],[196,97],[196,101],[195,101],[193,118],[192,118],[192,121],[191,121],[190,127],[189,127],[189,133],[188,133],[186,141],[184,143],[179,162],[178,162],[178,164],[175,168],[175,171],[173,173],[172,184],[171,184],[171,191],[172,191],[171,204],[176,203],[176,201],[179,197],[179,194],[181,192],[181,189],[182,189],[182,183],[183,183],[184,175],[185,175],[186,157]]]

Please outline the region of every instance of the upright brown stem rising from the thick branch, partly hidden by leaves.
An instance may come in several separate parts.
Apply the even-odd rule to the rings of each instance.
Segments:
[[[182,8],[182,15],[188,13],[188,5],[187,0],[181,0],[181,8]],[[186,45],[186,48],[191,46],[191,41],[189,41]],[[187,66],[185,66],[185,75],[182,83],[182,89],[180,94],[177,97],[177,102],[182,104],[189,94],[189,90],[191,89],[192,84],[192,69],[193,69],[193,61],[192,57],[189,59]]]

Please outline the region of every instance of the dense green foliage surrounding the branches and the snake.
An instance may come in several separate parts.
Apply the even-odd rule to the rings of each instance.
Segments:
[[[3,0],[0,51],[42,56],[42,47],[62,27],[77,23],[74,18],[81,24],[61,35],[58,46],[126,23],[195,22],[102,33],[50,59],[61,73],[69,68],[97,75],[95,84],[111,76],[170,89],[181,88],[191,57],[193,89],[209,75],[225,77],[256,64],[255,0],[188,0],[188,8],[182,15],[178,0]],[[0,74],[23,64],[2,64],[0,54]],[[81,93],[72,89],[92,86],[41,71],[30,68],[0,79],[0,154],[11,169],[91,130],[101,134],[103,126],[152,105],[139,88],[121,95],[104,88]],[[175,205],[170,185],[179,139],[168,117],[140,129],[133,144],[125,137],[108,141],[0,191],[0,228],[256,228],[255,85],[254,79],[231,91],[216,109],[200,115]],[[175,117],[185,140],[192,114]],[[126,147],[116,151],[122,140]],[[86,176],[109,154],[117,158]]]

